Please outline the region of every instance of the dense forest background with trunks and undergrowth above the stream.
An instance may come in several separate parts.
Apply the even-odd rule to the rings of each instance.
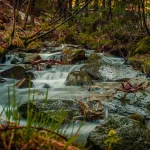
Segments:
[[[41,41],[83,45],[128,57],[150,35],[149,0],[0,1],[1,51]],[[34,43],[33,43],[34,42]],[[3,49],[4,48],[4,49]]]

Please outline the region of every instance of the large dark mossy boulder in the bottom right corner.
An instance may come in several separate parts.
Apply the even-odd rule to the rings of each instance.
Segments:
[[[106,140],[111,130],[116,131],[119,140],[113,145],[114,150],[149,150],[150,131],[139,121],[119,115],[110,115],[102,125],[90,132],[86,147],[89,150],[105,150]]]

